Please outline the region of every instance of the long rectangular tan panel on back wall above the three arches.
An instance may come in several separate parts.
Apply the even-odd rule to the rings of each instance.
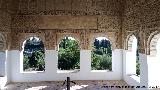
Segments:
[[[12,28],[19,29],[97,29],[96,16],[15,16]]]

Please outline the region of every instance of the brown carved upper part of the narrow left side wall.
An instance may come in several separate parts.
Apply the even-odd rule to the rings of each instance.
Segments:
[[[0,43],[3,43],[0,51],[9,49],[11,44],[11,7],[11,1],[0,0]]]

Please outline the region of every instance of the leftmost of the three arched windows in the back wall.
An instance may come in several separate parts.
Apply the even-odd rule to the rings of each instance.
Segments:
[[[23,43],[23,70],[45,71],[45,49],[42,40],[30,37]]]

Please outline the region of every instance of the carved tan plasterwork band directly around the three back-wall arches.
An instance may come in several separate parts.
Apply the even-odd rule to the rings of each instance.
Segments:
[[[16,31],[16,30],[15,30]],[[37,30],[35,30],[37,31]],[[111,40],[113,43],[113,49],[120,47],[121,45],[118,44],[118,39],[119,38],[116,34],[117,32],[112,31],[106,31],[106,30],[82,30],[82,29],[67,29],[67,30],[62,30],[62,29],[48,29],[48,30],[39,30],[41,32],[35,32],[35,33],[30,33],[30,31],[25,31],[24,32],[14,32],[12,33],[12,47],[11,49],[13,50],[21,50],[21,46],[23,41],[26,39],[26,37],[30,36],[38,36],[42,38],[42,40],[45,43],[45,47],[47,50],[57,50],[59,42],[66,36],[71,36],[75,38],[82,50],[88,50],[90,48],[90,44],[92,42],[91,39],[95,39],[93,36],[105,36]],[[26,33],[28,32],[28,33]],[[116,36],[116,37],[115,37]],[[14,42],[16,41],[16,42]],[[20,44],[19,44],[20,43]]]

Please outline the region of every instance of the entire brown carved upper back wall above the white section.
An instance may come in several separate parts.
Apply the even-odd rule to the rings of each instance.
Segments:
[[[12,17],[11,49],[21,50],[26,33],[44,37],[46,49],[56,49],[62,37],[73,36],[90,49],[92,36],[121,46],[120,0],[21,0]],[[111,35],[109,34],[111,33]],[[14,41],[17,42],[14,42]]]

